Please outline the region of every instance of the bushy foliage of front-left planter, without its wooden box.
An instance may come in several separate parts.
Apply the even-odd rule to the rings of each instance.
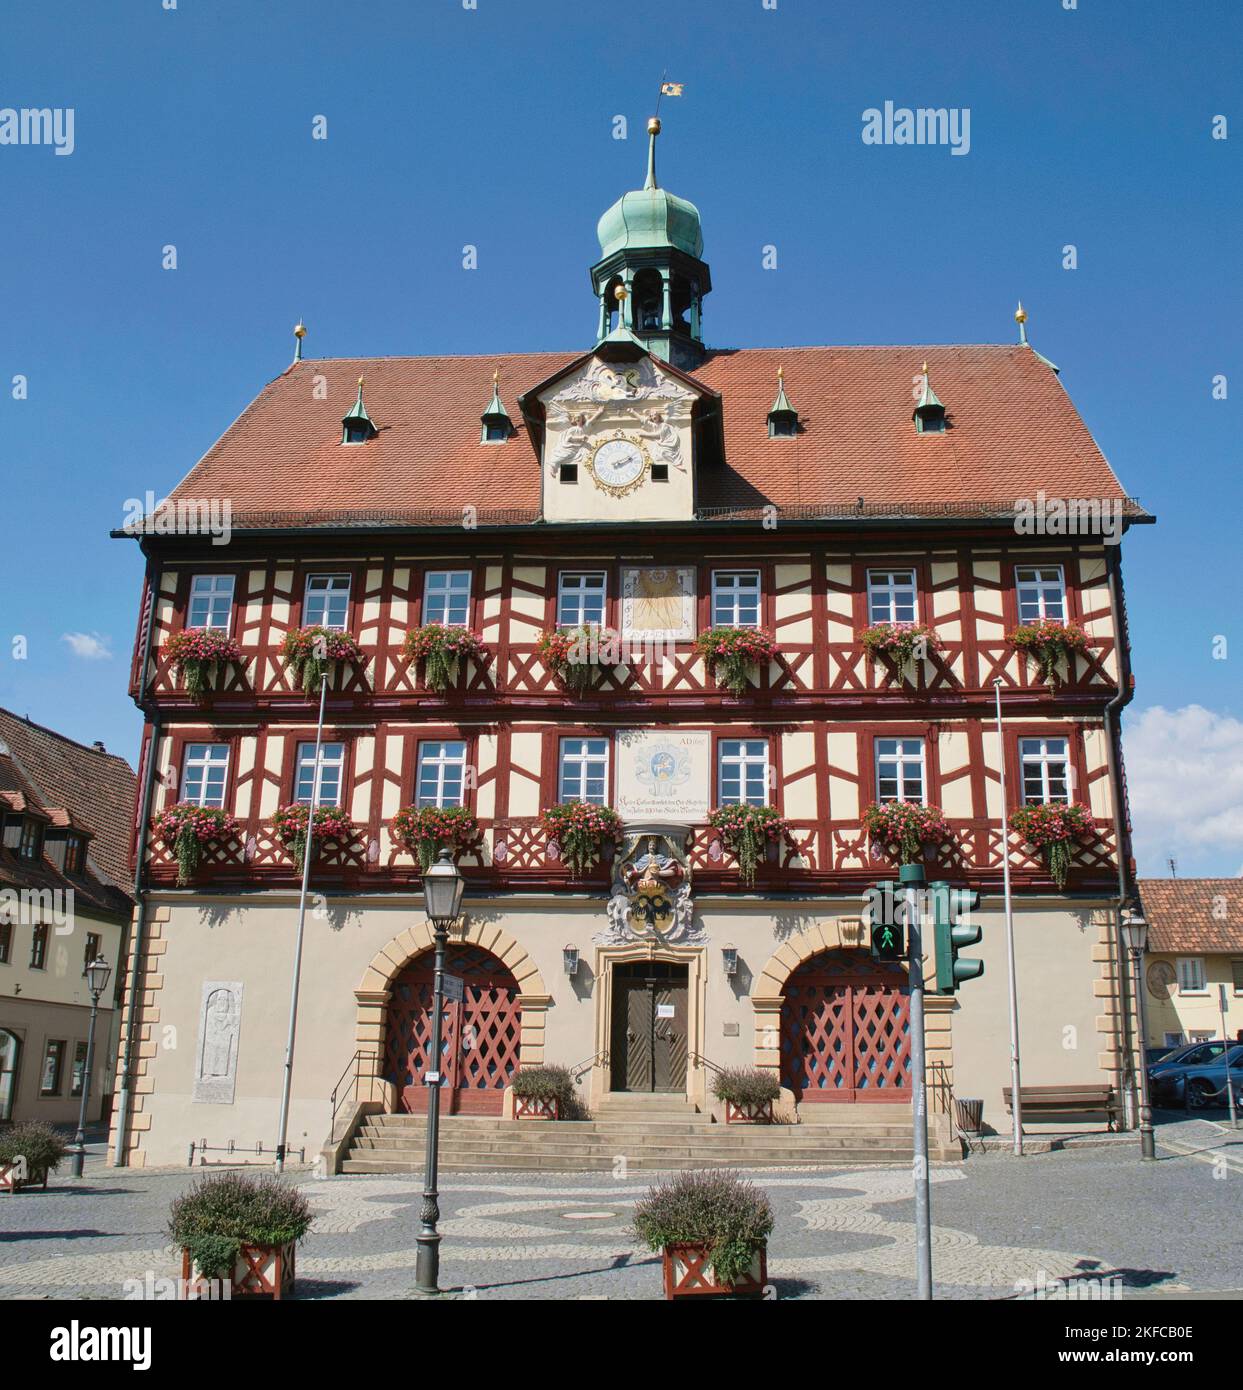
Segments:
[[[242,1245],[288,1245],[310,1230],[306,1197],[264,1173],[213,1173],[168,1209],[168,1234],[204,1279],[231,1277]]]

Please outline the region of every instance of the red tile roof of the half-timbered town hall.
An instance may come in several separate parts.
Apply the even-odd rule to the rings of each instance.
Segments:
[[[517,398],[581,353],[309,359],[271,381],[178,485],[174,498],[229,499],[238,527],[332,521],[530,521],[539,463]],[[945,403],[944,434],[915,432],[912,378],[923,361]],[[777,367],[801,420],[769,439]],[[501,371],[516,434],[480,443]],[[342,448],[357,378],[380,428]],[[1055,373],[1027,348],[787,348],[712,352],[694,378],[723,398],[726,466],[701,468],[713,509],[895,509],[939,514],[1009,509],[1048,496],[1125,492]],[[327,382],[327,396],[316,391]]]

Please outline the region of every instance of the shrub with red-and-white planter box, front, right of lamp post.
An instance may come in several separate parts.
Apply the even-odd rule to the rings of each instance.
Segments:
[[[649,1187],[634,1208],[635,1236],[663,1252],[666,1298],[762,1293],[772,1230],[767,1197],[727,1169],[679,1173]]]

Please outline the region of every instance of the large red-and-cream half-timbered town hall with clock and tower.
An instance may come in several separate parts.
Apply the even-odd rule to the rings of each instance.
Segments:
[[[514,1068],[539,1062],[576,1068],[588,1104],[705,1104],[713,1066],[759,1066],[805,1120],[907,1105],[907,972],[872,960],[861,901],[897,877],[865,820],[894,802],[940,808],[929,878],[983,895],[983,979],[929,1001],[939,1113],[976,1095],[1008,1127],[1002,856],[1025,1080],[1125,1084],[1130,669],[1108,542],[1151,517],[1022,314],[1014,345],[705,346],[701,220],[659,186],[655,135],[645,186],[599,222],[585,350],[310,360],[299,325],[288,370],[120,532],[146,557],[131,694],[150,798],[118,1159],[274,1141],[299,899],[284,812],[313,799],[336,823],[313,845],[295,1147],[327,1137],[343,1079],[425,1106],[412,827],[432,808],[469,817],[445,821],[467,880],[450,1112],[507,1113]],[[1068,525],[1059,499],[1118,532]],[[231,531],[209,534],[224,502]],[[912,624],[909,657],[863,644]],[[445,627],[477,649],[442,662]],[[1021,627],[1054,644],[1047,666]],[[306,628],[334,634],[318,766],[313,666],[286,651]],[[733,684],[697,649],[713,628]],[[1065,876],[1002,830],[1002,759],[1012,808],[1090,812]],[[574,873],[544,813],[584,803],[623,833]],[[175,830],[152,827],[188,806],[232,820],[179,881]],[[763,834],[766,809],[758,847],[726,823]]]

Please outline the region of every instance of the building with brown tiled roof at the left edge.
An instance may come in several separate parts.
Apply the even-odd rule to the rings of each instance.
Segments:
[[[99,1001],[89,1116],[108,1115],[135,792],[133,770],[101,744],[0,709],[0,1122],[76,1123],[90,1020],[82,972],[100,954],[113,974]]]

